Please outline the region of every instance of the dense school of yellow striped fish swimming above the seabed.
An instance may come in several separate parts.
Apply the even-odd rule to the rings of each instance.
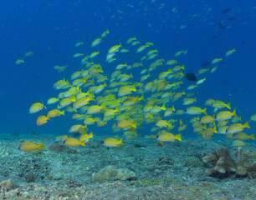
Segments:
[[[59,136],[56,140],[62,141],[69,147],[85,146],[85,143],[94,137],[88,133],[90,125],[97,124],[98,127],[112,125],[113,133],[120,133],[121,137],[129,139],[139,137],[138,128],[143,124],[151,124],[151,133],[145,138],[158,140],[162,145],[166,142],[182,141],[182,132],[187,129],[187,124],[192,124],[193,132],[206,140],[211,140],[213,134],[224,134],[233,140],[234,146],[244,146],[244,140],[254,139],[254,135],[248,136],[243,133],[244,128],[250,128],[248,122],[241,123],[241,117],[237,116],[236,109],[230,112],[230,103],[218,99],[207,99],[207,107],[197,107],[197,97],[190,92],[206,81],[206,77],[199,79],[195,84],[185,89],[183,79],[185,77],[185,65],[178,63],[177,58],[186,56],[187,49],[178,51],[170,59],[163,59],[158,55],[153,42],[138,41],[136,37],[128,38],[125,42],[109,48],[105,63],[95,63],[98,57],[100,45],[103,45],[104,37],[109,31],[95,38],[91,44],[85,47],[88,52],[74,53],[74,59],[80,59],[81,69],[74,72],[69,80],[59,80],[54,83],[54,89],[59,92],[56,97],[49,97],[47,104],[49,112],[37,119],[37,125],[41,126],[54,117],[64,116],[65,112],[72,112],[75,124],[69,128],[69,133],[80,133],[80,138],[71,138],[68,135]],[[137,47],[136,47],[137,46]],[[77,42],[74,47],[84,47],[84,42]],[[97,51],[94,51],[98,48]],[[235,49],[229,50],[226,57],[230,56]],[[123,53],[130,55],[141,54],[141,60],[133,63],[120,63],[118,57]],[[216,72],[218,62],[223,58],[212,59],[212,68],[202,68],[197,72],[201,76],[207,72]],[[115,69],[112,70],[114,63]],[[17,64],[22,63],[19,61]],[[58,72],[63,72],[67,66],[54,66]],[[130,69],[141,69],[140,74],[129,73]],[[104,75],[104,71],[110,72],[110,76]],[[156,78],[152,78],[156,77]],[[137,81],[133,81],[136,79]],[[184,87],[184,89],[182,89]],[[186,91],[186,92],[185,92]],[[182,102],[183,109],[176,109],[173,102]],[[192,105],[193,104],[193,105]],[[168,106],[166,106],[168,105]],[[29,113],[42,112],[46,109],[43,102],[35,102],[29,109]],[[227,111],[228,109],[228,111]],[[208,110],[208,111],[207,111]],[[214,112],[213,116],[207,112]],[[192,115],[191,120],[186,123],[182,121],[183,114]],[[201,115],[203,116],[201,117]],[[195,116],[195,117],[193,117]],[[256,115],[250,119],[256,121]],[[111,121],[111,122],[109,122]],[[175,130],[174,128],[177,127]],[[141,129],[143,130],[143,129]],[[68,131],[68,130],[67,130]],[[112,135],[113,133],[110,133]],[[177,133],[177,134],[174,134]],[[105,138],[106,147],[117,147],[124,145],[123,140]],[[43,144],[25,142],[20,146],[22,151],[37,151],[44,148]]]

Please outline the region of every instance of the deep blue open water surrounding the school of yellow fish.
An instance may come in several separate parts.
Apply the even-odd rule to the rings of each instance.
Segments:
[[[73,72],[83,68],[80,59],[73,58],[74,53],[89,54],[99,50],[100,57],[96,57],[94,62],[100,62],[105,74],[110,75],[116,62],[105,62],[108,49],[119,42],[125,44],[134,36],[141,45],[154,42],[152,49],[156,48],[165,60],[174,58],[176,52],[187,48],[187,55],[178,57],[179,63],[185,64],[185,72],[197,72],[202,62],[223,57],[224,62],[218,64],[218,71],[206,74],[207,81],[197,90],[196,105],[204,107],[203,102],[208,98],[231,102],[233,108],[238,107],[237,113],[243,117],[243,122],[248,121],[256,113],[256,8],[253,6],[253,1],[242,0],[1,1],[0,133],[30,133],[35,130],[44,134],[66,134],[76,123],[71,114],[56,117],[38,127],[36,118],[47,112],[28,114],[29,107],[34,102],[47,102],[49,97],[57,97],[60,91],[54,90],[54,82],[64,77],[68,79]],[[231,9],[223,13],[228,7]],[[223,20],[226,29],[217,26]],[[110,34],[102,44],[92,49],[91,42],[106,29]],[[213,37],[216,39],[212,40]],[[74,47],[76,42],[84,42],[84,46]],[[133,52],[137,47],[126,46]],[[225,58],[231,47],[235,47],[237,52]],[[34,55],[24,57],[28,51],[33,51]],[[23,57],[24,64],[15,64]],[[120,63],[139,62],[140,58],[141,55],[136,53],[124,54],[120,55]],[[54,65],[69,67],[64,72],[56,72]],[[166,69],[160,67],[156,72]],[[127,73],[131,72],[136,74],[141,72],[141,68]],[[185,86],[191,84],[186,79],[183,82]],[[228,97],[228,94],[232,96]],[[176,102],[177,109],[184,109],[181,104]],[[187,116],[183,118],[185,122],[189,119]],[[110,126],[108,128],[112,134]],[[102,128],[93,126],[92,129],[96,134],[103,134]],[[253,132],[255,122],[247,133]]]

